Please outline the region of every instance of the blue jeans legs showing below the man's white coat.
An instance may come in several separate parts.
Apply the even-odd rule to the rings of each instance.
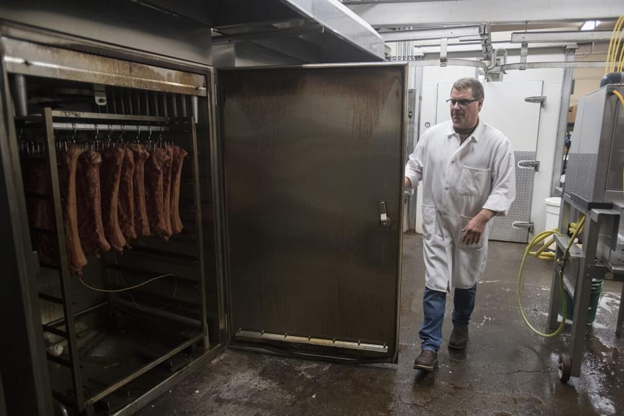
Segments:
[[[468,327],[476,294],[476,283],[470,289],[455,288],[452,314],[454,326]],[[421,349],[438,352],[440,344],[442,344],[442,322],[444,321],[444,307],[446,307],[446,292],[438,292],[425,287],[423,298],[424,320],[421,330],[418,332],[422,340]]]

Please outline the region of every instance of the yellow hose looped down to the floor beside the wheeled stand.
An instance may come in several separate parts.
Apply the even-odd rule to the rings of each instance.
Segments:
[[[570,248],[572,247],[572,244],[574,244],[574,240],[577,238],[577,235],[583,231],[583,228],[585,225],[585,217],[584,216],[581,217],[578,223],[570,224],[570,227],[572,227],[573,225],[575,227],[573,228],[574,231],[572,232],[572,237],[570,237],[570,242],[568,243],[568,246],[566,247],[565,252],[563,252],[562,258],[558,260],[558,262],[560,263],[563,262],[563,265],[565,265],[565,261],[568,258],[568,253],[570,252]],[[554,253],[543,253],[543,251],[545,250],[545,247],[548,247],[548,245],[550,244],[548,245],[544,244],[544,246],[540,250],[537,250],[535,252],[531,251],[531,249],[535,247],[537,244],[540,244],[540,242],[544,241],[545,239],[547,239],[548,237],[554,234],[560,234],[560,233],[557,230],[553,229],[553,230],[542,231],[540,232],[540,234],[535,235],[534,239],[531,240],[529,245],[527,245],[527,248],[524,250],[524,255],[522,256],[522,262],[520,263],[520,269],[518,270],[517,293],[518,293],[518,306],[520,308],[520,314],[522,315],[522,319],[524,320],[525,324],[527,324],[530,330],[535,332],[535,334],[540,335],[541,337],[545,337],[545,338],[556,337],[557,335],[561,334],[563,327],[565,327],[565,320],[567,319],[568,310],[567,310],[567,304],[564,299],[565,289],[563,289],[563,270],[562,272],[558,273],[558,279],[557,279],[559,282],[560,298],[561,298],[562,309],[563,309],[561,324],[559,324],[559,327],[555,330],[555,332],[551,332],[550,334],[545,334],[535,329],[535,327],[530,324],[529,319],[527,318],[527,315],[525,315],[524,313],[524,307],[522,307],[522,296],[521,296],[522,295],[522,272],[524,271],[524,264],[527,260],[527,257],[529,257],[529,255],[535,255],[537,258],[544,259],[544,260],[555,258]],[[540,255],[544,255],[544,254],[552,254],[552,257],[551,256],[540,257]]]

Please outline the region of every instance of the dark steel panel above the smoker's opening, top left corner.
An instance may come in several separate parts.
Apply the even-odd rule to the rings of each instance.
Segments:
[[[0,2],[0,16],[7,21],[139,51],[212,64],[208,24],[139,2],[4,0]]]

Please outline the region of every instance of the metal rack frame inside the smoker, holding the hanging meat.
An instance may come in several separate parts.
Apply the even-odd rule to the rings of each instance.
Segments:
[[[119,114],[99,114],[89,112],[64,112],[64,111],[52,111],[50,108],[44,109],[41,116],[29,116],[18,117],[16,122],[21,123],[21,126],[33,126],[35,123],[43,124],[44,132],[46,136],[44,154],[47,157],[47,164],[50,167],[49,179],[51,183],[51,196],[36,196],[36,197],[51,197],[54,202],[54,219],[56,220],[56,232],[49,232],[47,230],[36,230],[34,232],[47,232],[47,234],[56,235],[59,258],[57,264],[39,264],[40,267],[56,272],[60,284],[61,294],[60,296],[54,296],[45,293],[39,293],[39,297],[47,302],[53,302],[54,304],[61,305],[63,311],[63,317],[61,319],[47,322],[43,325],[44,332],[54,334],[67,342],[67,355],[66,357],[57,357],[50,353],[47,354],[49,362],[59,365],[64,369],[69,369],[71,372],[71,393],[62,392],[57,389],[53,391],[53,394],[58,399],[61,399],[66,403],[73,403],[76,409],[82,411],[95,404],[105,396],[111,394],[115,390],[119,389],[123,385],[130,381],[137,379],[140,375],[153,369],[154,367],[172,359],[173,356],[179,354],[185,349],[192,347],[196,344],[207,343],[207,306],[206,306],[206,294],[205,294],[205,274],[203,265],[203,237],[202,237],[202,210],[200,207],[200,191],[199,191],[199,171],[197,161],[197,134],[195,131],[195,121],[193,117],[184,118],[169,118],[169,117],[153,117],[153,116],[122,116]],[[176,319],[180,322],[187,322],[188,325],[197,325],[195,334],[190,335],[183,342],[177,342],[177,344],[168,349],[164,354],[158,355],[158,357],[152,357],[148,359],[143,365],[140,365],[138,369],[126,374],[124,377],[120,377],[112,384],[100,383],[98,392],[86,392],[85,390],[85,375],[83,374],[83,365],[81,364],[80,355],[80,343],[78,340],[78,334],[76,331],[76,322],[83,320],[92,314],[100,312],[104,309],[115,307],[115,310],[132,311],[132,304],[124,302],[122,299],[115,299],[112,296],[107,295],[107,300],[99,302],[95,305],[90,305],[81,310],[74,309],[74,302],[72,297],[72,281],[75,279],[69,271],[69,262],[67,259],[66,239],[64,232],[64,220],[62,215],[62,201],[61,191],[59,185],[59,175],[57,172],[57,156],[56,156],[56,139],[55,131],[57,129],[84,129],[84,130],[108,130],[108,131],[135,131],[138,134],[140,132],[148,131],[167,131],[175,134],[184,134],[190,136],[190,157],[192,160],[192,179],[189,184],[192,186],[192,209],[194,212],[194,231],[192,237],[194,237],[195,247],[197,252],[195,255],[176,253],[173,251],[154,249],[149,244],[145,244],[144,247],[137,247],[137,250],[130,249],[129,254],[124,253],[124,257],[131,257],[135,255],[154,254],[161,259],[173,260],[174,262],[183,262],[190,267],[189,273],[193,277],[187,275],[187,277],[174,276],[173,279],[176,282],[187,282],[193,286],[198,285],[200,293],[200,304],[198,305],[198,316],[196,319],[189,319],[187,317],[171,314],[170,312],[158,313],[154,311],[154,316],[167,317],[167,319]],[[32,197],[32,195],[31,195]],[[119,254],[111,254],[107,256],[107,259],[102,260],[102,269],[104,272],[112,271],[119,272],[120,270],[129,272],[134,275],[154,275],[156,270],[150,270],[149,267],[127,267],[120,265],[117,262]],[[137,262],[139,263],[139,262]],[[139,263],[140,264],[140,263]],[[177,283],[176,283],[177,288]],[[138,304],[132,299],[136,307]],[[145,311],[149,311],[147,307],[140,308],[142,314]],[[150,311],[152,312],[152,311]],[[52,367],[51,367],[52,370]],[[58,387],[58,386],[55,386]]]

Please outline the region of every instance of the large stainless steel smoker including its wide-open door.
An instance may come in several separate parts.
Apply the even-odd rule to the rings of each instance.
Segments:
[[[217,82],[208,64],[0,32],[9,405],[132,414],[227,346],[397,362],[407,66],[222,69]],[[78,273],[61,155],[110,143],[188,153],[183,229],[87,255]],[[18,375],[32,385],[7,386]]]

